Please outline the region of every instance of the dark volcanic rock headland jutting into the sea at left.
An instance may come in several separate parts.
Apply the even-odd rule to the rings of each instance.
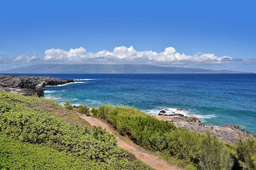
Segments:
[[[46,76],[10,76],[0,74],[0,89],[6,90],[7,92],[23,94],[24,96],[38,94],[41,97],[44,96],[45,86],[57,86],[70,82],[74,82],[74,80]]]

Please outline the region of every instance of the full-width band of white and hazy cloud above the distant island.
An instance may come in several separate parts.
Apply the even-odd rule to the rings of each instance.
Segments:
[[[246,64],[255,66],[255,59],[232,59],[229,56],[218,57],[213,53],[196,53],[186,55],[179,53],[174,47],[167,47],[164,51],[136,51],[134,47],[115,47],[113,51],[102,50],[97,53],[89,53],[84,47],[70,49],[48,49],[44,52],[44,58],[34,55],[18,55],[17,57],[0,57],[0,70],[4,67],[25,66],[37,63],[56,64],[151,64],[160,66],[177,66],[209,69],[240,70],[248,68]],[[252,70],[250,70],[252,71]],[[253,71],[254,72],[254,71]]]

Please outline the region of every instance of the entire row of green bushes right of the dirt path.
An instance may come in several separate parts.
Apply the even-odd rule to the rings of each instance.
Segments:
[[[186,169],[253,170],[256,167],[256,141],[253,137],[238,140],[235,147],[210,136],[209,132],[203,135],[177,128],[134,107],[100,105],[98,109],[92,108],[92,113],[94,117],[111,123],[134,143]],[[174,161],[176,158],[180,161]]]

